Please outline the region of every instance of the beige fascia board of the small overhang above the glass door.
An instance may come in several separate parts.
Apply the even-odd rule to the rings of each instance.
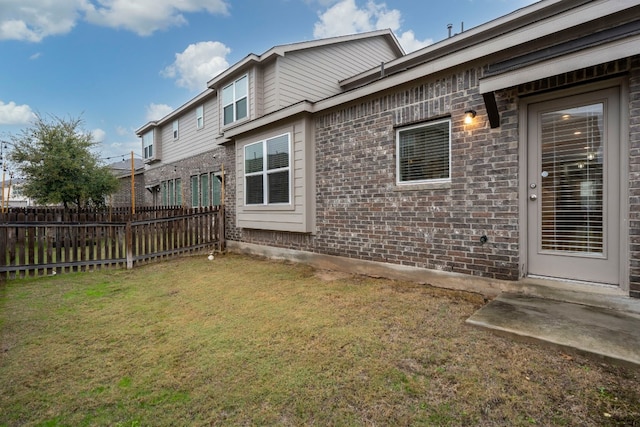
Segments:
[[[480,93],[493,92],[638,54],[640,54],[640,35],[635,35],[480,79]]]

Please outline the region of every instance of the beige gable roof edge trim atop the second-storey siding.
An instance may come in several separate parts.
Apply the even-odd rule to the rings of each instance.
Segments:
[[[207,86],[209,88],[215,89],[220,84],[220,82],[228,79],[229,77],[233,76],[236,73],[243,71],[244,69],[246,69],[251,65],[264,63],[273,59],[274,57],[285,56],[287,53],[290,53],[290,52],[296,52],[296,51],[301,51],[305,49],[314,49],[314,48],[325,47],[325,46],[329,46],[337,43],[346,43],[346,42],[373,38],[373,37],[383,37],[387,41],[391,49],[395,51],[396,55],[403,56],[405,54],[404,50],[402,49],[402,46],[400,46],[400,43],[398,42],[398,39],[393,34],[393,31],[389,29],[369,31],[366,33],[351,34],[347,36],[330,37],[326,39],[317,39],[317,40],[311,40],[311,41],[299,42],[299,43],[283,44],[283,45],[272,47],[262,55],[256,55],[253,53],[247,55],[243,60],[237,62],[233,66],[229,67],[227,70],[223,71],[222,73],[215,76],[213,79],[209,80],[209,82],[207,83]]]

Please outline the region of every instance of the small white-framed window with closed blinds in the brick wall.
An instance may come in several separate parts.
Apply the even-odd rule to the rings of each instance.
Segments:
[[[398,184],[451,180],[451,120],[438,120],[398,129]]]

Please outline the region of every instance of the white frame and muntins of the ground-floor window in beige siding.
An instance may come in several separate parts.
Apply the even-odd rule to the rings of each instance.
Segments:
[[[287,166],[281,168],[273,168],[268,169],[268,142],[277,140],[283,136],[287,137]],[[255,141],[249,144],[246,144],[242,147],[242,165],[243,165],[243,175],[244,175],[244,197],[243,202],[244,206],[247,208],[252,207],[282,207],[282,206],[291,206],[292,205],[292,191],[293,191],[293,179],[292,179],[292,159],[293,159],[293,143],[291,140],[291,132],[285,132],[282,134],[278,134],[275,136],[271,136],[269,138],[264,138],[259,141]],[[262,170],[258,172],[250,172],[246,171],[246,154],[247,148],[251,146],[255,146],[261,144],[262,145]],[[287,188],[287,201],[286,202],[275,202],[269,203],[269,175],[275,173],[287,172],[287,180],[288,180],[288,188]],[[262,203],[249,203],[248,202],[248,191],[247,191],[247,178],[252,176],[262,176]]]

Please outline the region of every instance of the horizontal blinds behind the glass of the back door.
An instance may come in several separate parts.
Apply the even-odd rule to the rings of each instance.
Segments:
[[[603,104],[541,114],[543,250],[603,252]]]

